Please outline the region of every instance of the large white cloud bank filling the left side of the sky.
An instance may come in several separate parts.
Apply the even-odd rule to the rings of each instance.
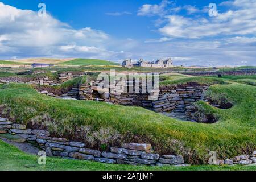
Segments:
[[[0,49],[6,56],[14,53],[21,56],[23,52],[27,56],[60,55],[68,51],[64,48],[73,45],[76,56],[108,58],[112,51],[107,51],[104,43],[109,39],[103,31],[90,27],[76,30],[49,14],[39,17],[35,11],[16,9],[0,2]]]

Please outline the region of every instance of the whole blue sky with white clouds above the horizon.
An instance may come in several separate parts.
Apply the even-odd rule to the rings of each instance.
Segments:
[[[256,65],[256,2],[214,1],[218,14],[209,17],[212,2],[0,0],[0,59],[172,57],[176,65]]]

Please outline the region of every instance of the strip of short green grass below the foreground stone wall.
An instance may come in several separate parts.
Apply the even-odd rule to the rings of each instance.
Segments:
[[[255,166],[190,166],[190,167],[150,167],[128,166],[117,164],[104,164],[82,160],[64,160],[59,158],[47,158],[46,165],[37,163],[36,155],[24,154],[18,148],[6,144],[0,140],[0,170],[1,171],[202,171],[202,170],[246,170],[255,171]]]

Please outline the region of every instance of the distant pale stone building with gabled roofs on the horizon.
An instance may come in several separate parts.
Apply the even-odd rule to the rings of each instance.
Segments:
[[[158,68],[168,68],[168,67],[173,67],[173,61],[171,58],[168,59],[159,59],[155,63],[154,61],[149,62],[149,61],[144,61],[144,60],[139,60],[137,63],[133,63],[133,61],[129,60],[124,60],[122,63],[123,67],[158,67]]]

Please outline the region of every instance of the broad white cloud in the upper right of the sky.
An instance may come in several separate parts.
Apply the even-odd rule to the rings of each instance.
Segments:
[[[168,15],[168,23],[159,31],[170,37],[202,38],[217,35],[248,35],[256,33],[256,2],[236,0],[234,10],[218,13],[215,18],[187,18]]]

